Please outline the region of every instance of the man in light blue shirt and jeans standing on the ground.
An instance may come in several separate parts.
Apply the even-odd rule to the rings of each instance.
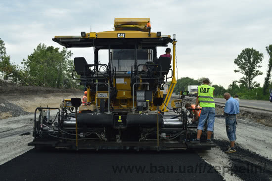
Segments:
[[[230,147],[227,148],[226,153],[234,153],[236,152],[234,143],[236,140],[236,114],[240,112],[239,103],[228,92],[224,93],[224,98],[227,100],[224,114],[226,116],[227,137],[230,141]]]

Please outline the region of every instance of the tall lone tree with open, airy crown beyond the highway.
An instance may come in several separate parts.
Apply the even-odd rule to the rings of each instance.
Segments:
[[[238,66],[238,70],[234,70],[235,73],[239,72],[244,76],[240,78],[239,83],[247,85],[249,89],[259,87],[260,84],[253,82],[253,79],[263,73],[258,68],[262,66],[259,65],[263,60],[263,53],[256,51],[253,48],[245,48],[234,60],[234,63]]]

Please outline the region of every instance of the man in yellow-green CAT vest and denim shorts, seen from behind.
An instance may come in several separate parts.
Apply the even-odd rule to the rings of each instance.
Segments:
[[[198,103],[202,108],[199,123],[197,127],[197,137],[195,140],[190,141],[194,144],[200,144],[200,137],[203,131],[204,124],[207,120],[207,144],[213,143],[211,141],[211,136],[214,131],[215,122],[215,102],[214,102],[214,89],[209,86],[210,80],[208,78],[203,79],[203,85],[197,88],[197,97],[195,102],[195,107]]]

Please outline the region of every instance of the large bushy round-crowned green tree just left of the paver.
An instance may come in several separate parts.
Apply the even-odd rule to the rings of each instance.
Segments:
[[[63,88],[71,74],[68,69],[72,52],[67,48],[61,51],[53,46],[39,44],[27,60],[23,60],[27,75],[32,84],[43,87]],[[66,81],[65,81],[66,80]],[[67,84],[66,84],[67,85]],[[66,87],[66,86],[65,86]]]

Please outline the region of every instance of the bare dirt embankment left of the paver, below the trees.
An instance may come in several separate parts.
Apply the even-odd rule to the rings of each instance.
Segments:
[[[59,107],[64,98],[82,97],[83,91],[34,86],[0,86],[0,119],[34,113],[37,107]]]

